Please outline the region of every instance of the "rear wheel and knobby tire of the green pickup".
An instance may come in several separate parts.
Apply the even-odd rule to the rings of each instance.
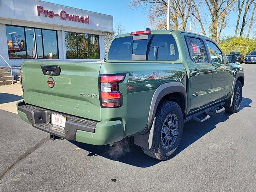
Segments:
[[[162,101],[156,111],[152,147],[143,152],[158,160],[167,160],[176,151],[183,133],[183,114],[180,106],[172,101]]]

